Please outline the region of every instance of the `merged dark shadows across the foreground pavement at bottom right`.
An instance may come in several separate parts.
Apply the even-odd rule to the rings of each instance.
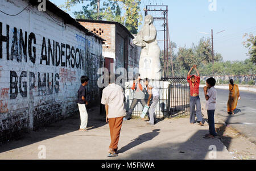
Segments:
[[[149,132],[147,134],[140,135],[130,144],[120,149],[120,153],[126,152],[129,149],[141,144],[145,141],[152,140],[158,131]],[[138,149],[138,151],[130,153],[125,156],[124,153],[119,155],[118,159],[131,159],[131,160],[203,160],[214,159],[210,151],[216,148],[217,151],[223,151],[224,145],[218,142],[217,139],[204,139],[203,136],[207,134],[207,130],[199,130],[193,136],[191,136],[184,143],[163,143],[156,145],[155,147],[148,147]],[[215,145],[215,146],[213,146]],[[123,157],[122,157],[123,156]],[[228,159],[229,156],[222,155],[216,156],[216,159]],[[230,157],[231,158],[231,157]],[[230,159],[229,158],[229,159]]]

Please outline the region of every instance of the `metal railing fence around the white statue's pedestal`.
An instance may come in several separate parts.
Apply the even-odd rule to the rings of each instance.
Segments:
[[[134,98],[134,90],[131,90],[133,82],[126,82],[125,86],[125,108],[129,110]],[[143,82],[141,82],[142,86]],[[163,80],[151,80],[150,84],[158,85],[159,102],[155,109],[156,118],[168,118],[170,116],[189,114],[189,84],[185,78],[165,78]],[[146,90],[144,90],[146,93]],[[145,99],[147,101],[148,94]],[[133,110],[133,116],[141,115],[143,106],[138,103]]]

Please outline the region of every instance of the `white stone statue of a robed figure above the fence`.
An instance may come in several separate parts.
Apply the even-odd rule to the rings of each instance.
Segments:
[[[142,29],[133,39],[133,44],[142,47],[139,59],[139,73],[141,78],[160,80],[162,70],[160,64],[160,47],[156,41],[156,28],[153,25],[153,17],[146,15]]]

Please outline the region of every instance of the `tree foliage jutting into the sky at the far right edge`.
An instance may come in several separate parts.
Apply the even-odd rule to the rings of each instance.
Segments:
[[[253,34],[245,34],[243,37],[247,37],[245,41],[243,41],[243,45],[245,48],[248,48],[248,56],[250,56],[251,61],[256,63],[256,36]]]

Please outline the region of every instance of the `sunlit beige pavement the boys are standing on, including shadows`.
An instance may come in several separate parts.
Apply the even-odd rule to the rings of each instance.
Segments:
[[[2,145],[0,159],[39,159],[39,145],[45,145],[46,159],[210,159],[210,145],[217,148],[216,159],[232,159],[219,139],[203,139],[207,122],[205,126],[189,124],[189,118],[164,119],[155,126],[141,119],[125,121],[119,156],[109,158],[109,125],[98,108],[88,113],[88,132],[77,131],[80,118],[76,114]]]

